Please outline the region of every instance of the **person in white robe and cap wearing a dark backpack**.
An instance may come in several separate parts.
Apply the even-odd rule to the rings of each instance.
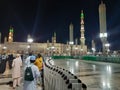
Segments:
[[[30,56],[30,64],[25,67],[23,90],[37,90],[37,78],[40,76],[40,73],[39,73],[38,67],[36,65],[34,65],[35,60],[36,60],[35,56]],[[27,68],[29,68],[29,67],[31,68],[32,76],[29,76],[29,75],[31,75],[30,69],[27,70]],[[28,71],[30,73],[28,73]],[[28,76],[26,76],[26,75],[28,75]],[[30,79],[30,80],[28,80],[28,79]]]

